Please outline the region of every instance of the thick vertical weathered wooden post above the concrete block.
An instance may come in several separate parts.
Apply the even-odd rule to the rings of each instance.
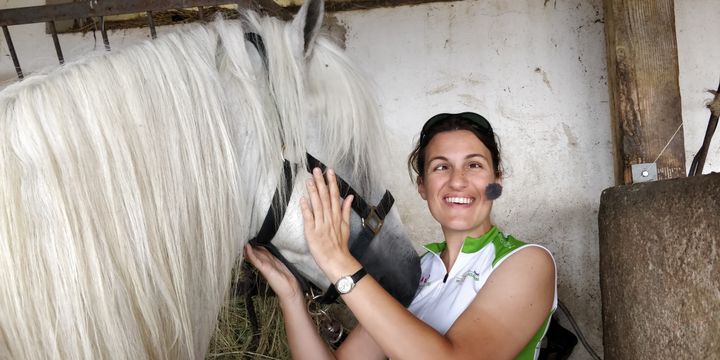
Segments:
[[[604,0],[615,176],[657,164],[658,180],[685,176],[673,0]]]

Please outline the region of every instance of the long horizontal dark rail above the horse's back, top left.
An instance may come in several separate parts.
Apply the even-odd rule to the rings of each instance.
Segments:
[[[164,11],[198,6],[238,4],[222,0],[103,0],[91,6],[89,1],[66,4],[28,6],[0,10],[0,26],[33,24],[51,20],[71,20],[86,17]],[[240,2],[243,4],[243,2]],[[245,2],[244,4],[248,4]]]

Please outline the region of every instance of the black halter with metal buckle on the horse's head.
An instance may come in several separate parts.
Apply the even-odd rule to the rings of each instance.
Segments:
[[[306,155],[308,172],[312,172],[312,169],[316,167],[320,168],[323,172],[327,169],[325,164],[320,162],[320,160],[316,159],[310,154]],[[273,195],[270,209],[268,209],[267,214],[265,215],[265,219],[263,220],[263,224],[260,227],[260,231],[254,238],[250,240],[250,244],[253,246],[262,246],[266,248],[271,254],[273,254],[273,256],[275,256],[276,258],[278,258],[278,260],[285,264],[285,266],[287,266],[290,272],[295,275],[295,278],[298,280],[302,291],[307,294],[310,292],[310,287],[312,285],[309,284],[309,282],[305,279],[304,276],[302,276],[302,274],[300,274],[297,268],[295,268],[295,266],[280,253],[278,248],[272,244],[272,239],[275,237],[275,234],[280,227],[280,222],[285,215],[285,210],[287,209],[289,201],[289,194],[292,192],[293,172],[290,166],[290,162],[287,160],[285,160],[283,164],[283,172],[285,174],[285,201],[283,202],[281,200],[280,190],[276,189],[275,194]],[[352,254],[355,259],[358,259],[358,261],[360,261],[360,259],[365,256],[365,253],[370,246],[370,242],[373,240],[373,238],[375,238],[375,235],[377,235],[382,229],[385,216],[388,214],[388,212],[390,212],[390,209],[392,208],[395,199],[393,198],[392,194],[390,194],[390,192],[386,190],[385,194],[383,195],[377,206],[370,206],[365,201],[365,199],[363,199],[362,196],[358,195],[358,193],[345,180],[343,180],[339,176],[336,176],[336,179],[341,197],[345,198],[348,195],[353,195],[353,202],[351,206],[355,213],[357,213],[361,219],[362,230],[350,246],[350,254]],[[318,300],[318,302],[321,304],[330,304],[338,298],[338,295],[339,294],[335,289],[335,285],[330,284],[330,287],[328,287],[328,289]]]

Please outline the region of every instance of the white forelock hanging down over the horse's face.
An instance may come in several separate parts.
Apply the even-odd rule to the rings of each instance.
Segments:
[[[291,23],[254,12],[248,12],[243,23],[245,32],[262,37],[267,54],[267,78],[253,80],[267,81],[271,99],[263,104],[264,119],[257,117],[254,124],[262,137],[263,164],[279,167],[281,154],[304,167],[305,153],[318,148],[316,157],[329,166],[349,169],[354,186],[368,196],[386,180],[385,162],[378,154],[387,147],[367,76],[326,36],[315,38],[306,57],[303,34]],[[220,29],[221,38],[241,36]],[[306,133],[309,129],[318,134]]]

